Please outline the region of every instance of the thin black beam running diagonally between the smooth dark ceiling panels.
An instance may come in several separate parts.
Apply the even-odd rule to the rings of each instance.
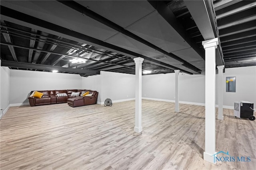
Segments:
[[[99,21],[100,23],[104,24],[104,25],[107,25],[108,27],[132,38],[132,39],[135,39],[136,41],[139,41],[140,43],[143,43],[144,45],[147,45],[148,47],[151,47],[153,49],[155,49],[156,51],[159,51],[160,53],[163,53],[165,55],[167,55],[168,57],[171,57],[173,59],[176,59],[177,61],[180,61],[182,63],[184,63],[184,66],[186,66],[187,68],[195,71],[195,72],[198,72],[198,73],[201,73],[202,70],[200,70],[199,68],[193,66],[192,64],[188,63],[187,61],[181,59],[180,57],[172,54],[172,53],[168,53],[167,51],[164,51],[163,49],[161,49],[160,47],[157,47],[156,45],[146,41],[145,39],[142,39],[141,37],[135,35],[134,33],[124,29],[123,27],[121,27],[120,25],[117,25],[116,23],[100,16],[99,14],[93,12],[92,10],[89,10],[88,8],[78,4],[77,2],[75,1],[62,1],[62,0],[58,0],[58,2],[68,6],[69,8],[72,8],[73,10],[76,10],[77,12],[80,12],[81,14],[84,14],[96,21]]]

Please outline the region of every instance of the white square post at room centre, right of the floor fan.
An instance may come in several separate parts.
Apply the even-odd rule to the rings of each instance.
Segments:
[[[142,119],[142,62],[143,58],[137,57],[135,62],[135,127],[134,131],[137,133],[142,132],[141,119]]]

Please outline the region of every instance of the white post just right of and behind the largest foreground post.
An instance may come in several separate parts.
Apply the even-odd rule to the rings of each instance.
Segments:
[[[224,66],[217,66],[218,68],[218,119],[224,120],[223,116],[223,68]]]

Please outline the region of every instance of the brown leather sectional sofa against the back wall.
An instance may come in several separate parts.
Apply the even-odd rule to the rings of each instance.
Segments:
[[[89,94],[92,94],[92,96],[80,96],[81,93],[85,91],[89,91]],[[31,91],[30,94],[32,94],[34,91]],[[41,105],[48,105],[48,104],[59,104],[59,103],[67,103],[67,100],[69,98],[83,98],[84,99],[84,105],[90,105],[90,104],[96,104],[97,98],[98,98],[98,92],[94,90],[42,90],[38,91],[43,93],[44,95],[42,98],[35,98],[35,97],[29,97],[29,104],[30,106],[41,106]],[[72,92],[80,92],[79,96],[71,96]],[[57,94],[59,93],[66,93],[68,96],[60,96],[58,97]]]

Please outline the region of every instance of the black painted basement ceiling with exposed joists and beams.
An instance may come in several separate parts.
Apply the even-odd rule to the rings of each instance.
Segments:
[[[217,65],[256,65],[255,1],[207,3],[205,11],[212,9],[212,13],[200,15],[208,17],[208,23],[192,12],[197,5],[183,0],[1,0],[1,65],[81,76],[100,70],[135,74],[133,59],[142,57],[142,69],[151,74],[177,69],[200,74],[202,41],[210,33],[220,38]],[[204,31],[209,23],[210,30]],[[72,59],[85,63],[72,63]]]

